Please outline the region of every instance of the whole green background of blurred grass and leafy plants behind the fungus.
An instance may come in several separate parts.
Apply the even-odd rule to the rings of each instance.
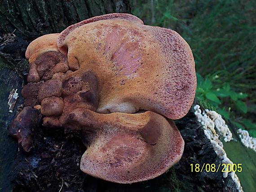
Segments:
[[[133,1],[145,24],[171,28],[190,45],[199,104],[256,137],[256,1]]]

